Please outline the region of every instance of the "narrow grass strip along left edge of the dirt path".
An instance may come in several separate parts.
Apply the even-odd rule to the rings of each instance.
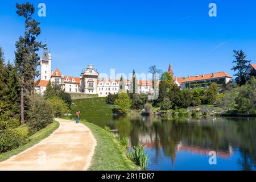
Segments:
[[[39,143],[40,141],[42,141],[43,139],[49,137],[49,135],[51,135],[52,132],[55,131],[59,127],[59,125],[60,125],[59,122],[55,121],[55,122],[49,124],[48,126],[46,126],[44,129],[42,129],[42,130],[36,132],[35,134],[31,135],[30,137],[28,137],[30,142],[24,144],[23,146],[15,148],[14,150],[0,154],[0,162],[3,160],[9,159],[13,155],[19,154],[20,152],[26,150],[27,148],[30,148],[30,147],[34,146],[35,144]]]

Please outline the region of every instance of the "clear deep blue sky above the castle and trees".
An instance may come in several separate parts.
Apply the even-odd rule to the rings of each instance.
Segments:
[[[0,45],[6,60],[14,60],[15,41],[23,34],[23,19],[15,3],[1,1]],[[233,49],[243,49],[256,62],[256,1],[30,1],[34,18],[52,53],[52,69],[79,76],[88,64],[98,72],[147,73],[150,65],[175,76],[226,71],[233,75]],[[46,17],[37,15],[46,3]],[[217,17],[208,5],[217,5]],[[42,51],[39,52],[42,55]]]

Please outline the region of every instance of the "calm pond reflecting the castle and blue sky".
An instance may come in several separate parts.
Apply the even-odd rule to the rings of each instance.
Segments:
[[[130,148],[146,144],[147,170],[255,170],[256,118],[82,115],[118,130]],[[214,154],[216,160],[214,161]]]

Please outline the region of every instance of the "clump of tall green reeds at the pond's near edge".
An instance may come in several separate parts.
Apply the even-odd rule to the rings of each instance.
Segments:
[[[138,146],[133,147],[133,152],[132,152],[132,160],[133,162],[141,167],[142,169],[146,169],[148,166],[148,162],[150,162],[150,158],[144,151],[144,144],[140,145],[138,143]]]

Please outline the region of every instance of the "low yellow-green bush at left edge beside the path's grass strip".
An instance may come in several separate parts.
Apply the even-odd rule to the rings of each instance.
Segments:
[[[19,130],[2,130],[0,131],[0,154],[18,148],[27,142],[27,134]]]

